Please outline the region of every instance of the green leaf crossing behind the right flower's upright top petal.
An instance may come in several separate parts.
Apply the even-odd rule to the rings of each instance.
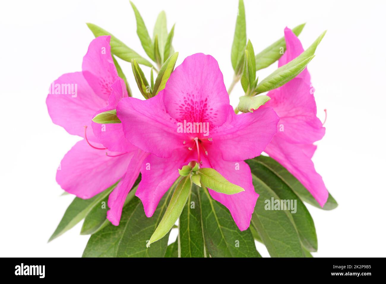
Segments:
[[[296,34],[296,36],[299,36],[301,31],[303,31],[304,25],[305,23],[294,27],[292,29],[293,33]],[[284,51],[286,51],[286,40],[284,39],[284,36],[283,36],[281,39],[279,39],[278,41],[275,41],[266,49],[256,54],[255,56],[256,70],[266,68],[272,63],[274,63],[283,55]]]

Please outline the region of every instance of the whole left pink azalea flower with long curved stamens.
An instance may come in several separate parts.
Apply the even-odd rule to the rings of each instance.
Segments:
[[[110,36],[97,37],[90,43],[82,70],[55,80],[46,100],[55,124],[85,138],[64,156],[56,181],[67,192],[88,199],[121,179],[109,196],[107,212],[107,218],[118,225],[125,198],[147,154],[124,138],[121,124],[91,121],[96,114],[115,109],[119,100],[128,96],[113,63]],[[90,126],[93,132],[86,136]]]

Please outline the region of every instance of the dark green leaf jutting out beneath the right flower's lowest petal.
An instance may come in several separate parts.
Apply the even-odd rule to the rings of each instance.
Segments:
[[[303,201],[323,210],[332,210],[338,206],[338,203],[335,201],[334,197],[332,197],[331,194],[328,194],[327,202],[324,204],[323,208],[320,207],[319,203],[299,182],[299,180],[291,175],[291,173],[289,173],[286,168],[276,162],[273,158],[267,156],[258,156],[255,158],[255,160],[257,160],[259,163],[262,163],[278,177],[280,177]]]

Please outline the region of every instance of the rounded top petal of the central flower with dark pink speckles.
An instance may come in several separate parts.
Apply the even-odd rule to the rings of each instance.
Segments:
[[[164,102],[166,111],[178,121],[223,124],[229,95],[217,61],[203,53],[185,58],[166,83]]]

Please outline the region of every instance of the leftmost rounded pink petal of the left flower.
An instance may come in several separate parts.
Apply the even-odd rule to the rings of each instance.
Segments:
[[[52,84],[54,85],[50,87],[51,94],[47,96],[46,100],[52,122],[62,126],[69,134],[85,137],[84,126],[91,126],[91,119],[95,111],[105,107],[106,100],[94,93],[81,72],[64,74]],[[66,91],[64,87],[68,84],[73,86],[76,94],[72,95],[71,92]],[[59,88],[56,89],[55,85]],[[55,89],[60,90],[61,94],[55,94]],[[90,141],[97,141],[90,130],[87,138]]]

